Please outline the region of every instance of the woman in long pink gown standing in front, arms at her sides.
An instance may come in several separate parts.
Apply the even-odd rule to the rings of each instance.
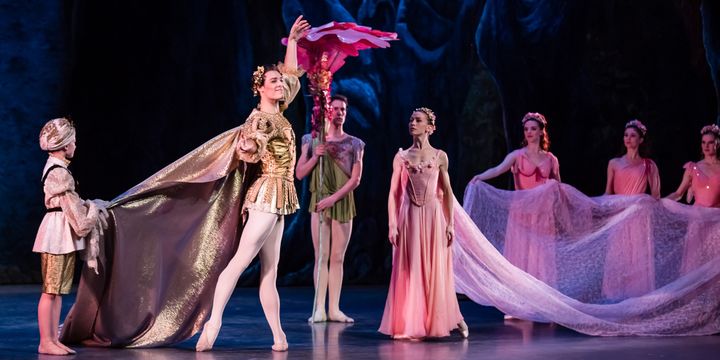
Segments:
[[[449,336],[468,328],[460,314],[452,268],[453,202],[448,158],[430,146],[435,114],[415,109],[413,145],[393,160],[388,238],[393,245],[390,288],[379,331],[394,339]]]

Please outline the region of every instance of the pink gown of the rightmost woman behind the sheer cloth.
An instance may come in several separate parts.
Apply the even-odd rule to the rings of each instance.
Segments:
[[[690,173],[692,176],[688,195],[690,195],[689,198],[695,198],[694,205],[706,208],[720,207],[720,173],[708,175],[698,164],[693,162],[686,163],[684,167],[686,173]],[[708,236],[712,236],[712,234],[703,233],[708,230],[712,230],[712,228],[697,223],[693,223],[688,227],[680,266],[681,274],[687,274],[693,269],[697,269],[708,258],[718,253],[717,248],[720,243],[712,244],[703,241],[703,239],[709,238]]]

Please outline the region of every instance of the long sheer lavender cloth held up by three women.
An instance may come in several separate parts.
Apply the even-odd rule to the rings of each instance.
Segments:
[[[555,181],[532,190],[503,191],[472,183],[465,209],[456,202],[453,243],[456,290],[522,319],[555,322],[601,336],[709,335],[720,332],[720,210],[697,208],[647,195],[588,198]],[[555,287],[510,264],[498,251],[504,243],[512,202],[528,211],[552,212],[556,232]],[[467,210],[467,212],[465,212]],[[657,288],[625,299],[601,291],[607,238],[637,218],[650,219]],[[478,228],[479,227],[479,228]],[[685,235],[702,227],[703,253],[681,275]],[[481,232],[482,230],[482,232]],[[532,224],[526,224],[528,236]],[[700,235],[701,234],[701,235]],[[486,237],[487,235],[487,237]],[[633,268],[625,269],[632,274]]]

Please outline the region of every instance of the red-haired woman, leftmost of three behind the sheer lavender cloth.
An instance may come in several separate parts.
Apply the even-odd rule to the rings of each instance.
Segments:
[[[560,181],[558,159],[549,150],[547,120],[542,114],[527,113],[522,119],[523,147],[508,154],[500,165],[475,176],[485,181],[512,171],[515,190],[530,190],[548,180]],[[544,199],[552,201],[552,199]],[[513,265],[550,286],[557,282],[555,262],[556,224],[552,211],[540,211],[540,203],[513,201],[507,220],[503,255]],[[531,232],[532,236],[528,235]]]

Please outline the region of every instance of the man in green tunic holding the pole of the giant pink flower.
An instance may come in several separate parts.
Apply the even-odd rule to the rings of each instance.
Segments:
[[[303,136],[301,154],[295,170],[298,179],[311,175],[308,210],[315,247],[313,278],[317,297],[315,313],[308,321],[351,323],[354,320],[340,311],[340,290],[345,250],[350,241],[352,220],[355,217],[353,190],[360,184],[365,143],[348,135],[343,129],[347,115],[347,98],[335,95],[330,105],[332,114],[331,121],[326,124],[325,141],[313,139],[310,134]],[[323,179],[320,179],[317,166],[320,161],[323,162],[324,167]],[[319,238],[322,239],[322,255]],[[317,262],[318,256],[321,257],[320,264]],[[325,312],[326,294],[329,298],[327,312]]]

